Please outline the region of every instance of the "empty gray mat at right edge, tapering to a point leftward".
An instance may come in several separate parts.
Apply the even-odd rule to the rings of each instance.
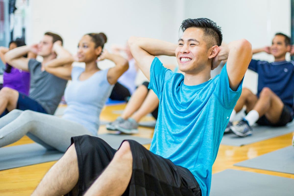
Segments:
[[[294,174],[294,148],[293,146],[288,146],[235,165]]]

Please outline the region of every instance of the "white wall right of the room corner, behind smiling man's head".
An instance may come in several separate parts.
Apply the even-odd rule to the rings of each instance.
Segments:
[[[222,27],[226,43],[246,38],[253,48],[260,48],[269,46],[276,32],[291,35],[290,5],[290,0],[186,0],[184,18],[212,19]],[[265,53],[253,58],[273,61]],[[290,60],[289,56],[287,59]],[[257,92],[257,74],[247,71],[243,86]]]

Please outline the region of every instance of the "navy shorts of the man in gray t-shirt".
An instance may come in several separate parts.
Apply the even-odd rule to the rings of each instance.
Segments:
[[[47,111],[34,99],[29,98],[28,96],[19,93],[19,98],[16,103],[16,109],[19,110],[32,110],[36,112],[41,112],[44,114],[48,114]],[[9,113],[9,111],[6,109],[0,116],[0,118],[4,115]]]

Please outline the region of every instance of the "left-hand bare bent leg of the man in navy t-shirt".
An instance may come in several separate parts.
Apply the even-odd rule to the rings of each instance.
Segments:
[[[253,109],[256,102],[257,96],[254,95],[248,88],[243,88],[234,110],[238,113],[242,110],[243,106],[246,105],[246,111],[249,112]]]

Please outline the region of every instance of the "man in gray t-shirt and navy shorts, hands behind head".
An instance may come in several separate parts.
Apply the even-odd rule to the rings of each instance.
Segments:
[[[0,90],[1,117],[13,109],[54,114],[67,83],[66,80],[46,72],[44,68],[46,63],[56,58],[56,53],[52,50],[53,43],[56,41],[62,43],[62,38],[47,32],[39,44],[21,46],[5,54],[5,60],[9,65],[29,71],[31,79],[29,97],[8,87]],[[43,62],[22,57],[28,52],[42,56]]]

